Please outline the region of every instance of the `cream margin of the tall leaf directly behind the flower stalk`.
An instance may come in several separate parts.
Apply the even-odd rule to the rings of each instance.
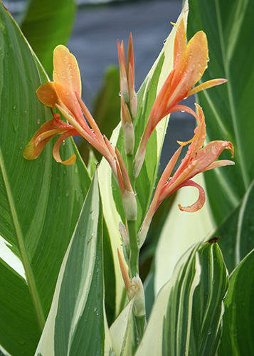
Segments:
[[[181,11],[181,14],[176,21],[176,23],[180,23],[181,19],[184,19],[184,23],[186,25],[187,23],[187,17],[189,13],[189,4],[188,1],[186,0],[184,3],[184,8]],[[170,16],[170,14],[169,14]],[[147,78],[152,78],[152,75],[154,74],[154,70],[159,62],[159,58],[161,58],[162,55],[165,56],[164,58],[164,63],[162,66],[162,71],[159,76],[159,82],[158,82],[158,87],[157,87],[157,93],[159,93],[159,90],[162,88],[162,85],[164,81],[166,80],[166,77],[169,75],[170,71],[173,69],[173,53],[174,53],[174,38],[176,36],[176,28],[175,26],[172,28],[171,33],[169,34],[169,37],[166,39],[166,42],[164,43],[164,47],[162,48],[161,53],[159,54],[159,57],[157,58],[157,61],[155,61],[154,65],[152,66],[151,70],[149,71]],[[146,80],[147,80],[146,78]],[[147,83],[149,80],[147,80]],[[146,90],[144,90],[144,94],[146,93]],[[157,125],[157,157],[159,159],[162,151],[162,145],[164,142],[164,136],[166,133],[166,127],[168,124],[168,117],[165,117],[164,120],[162,120],[159,125]],[[111,144],[113,147],[117,143],[117,138],[120,132],[120,124],[116,127],[114,130],[112,137],[110,139]],[[116,308],[117,308],[117,313],[120,313],[120,300],[122,297],[122,290],[124,288],[124,284],[122,282],[122,276],[120,273],[120,268],[118,264],[118,258],[117,258],[117,248],[119,248],[120,251],[122,251],[121,248],[121,239],[120,239],[120,232],[118,229],[118,224],[121,221],[120,215],[117,212],[117,209],[115,208],[115,201],[113,199],[113,194],[112,194],[112,189],[111,189],[111,169],[109,165],[107,164],[107,161],[105,159],[102,159],[102,162],[100,163],[100,167],[98,169],[98,177],[99,177],[99,185],[100,185],[100,194],[102,197],[102,206],[103,206],[103,214],[105,217],[105,222],[107,224],[107,228],[110,234],[110,241],[112,244],[112,253],[113,253],[113,258],[115,262],[115,276],[116,276]]]

